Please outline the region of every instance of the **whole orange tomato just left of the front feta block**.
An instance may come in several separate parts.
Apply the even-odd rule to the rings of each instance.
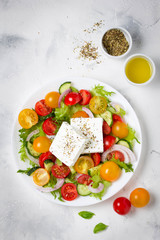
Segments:
[[[49,151],[51,146],[51,140],[47,137],[37,137],[33,141],[33,149],[39,153],[45,153]]]

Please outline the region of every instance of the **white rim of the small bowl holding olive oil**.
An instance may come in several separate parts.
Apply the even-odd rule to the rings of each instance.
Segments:
[[[146,59],[146,60],[150,63],[150,65],[151,65],[151,67],[152,67],[152,75],[151,75],[151,77],[149,78],[149,80],[146,81],[146,82],[144,82],[144,83],[134,83],[134,82],[132,82],[132,81],[127,77],[127,75],[126,75],[126,66],[127,66],[127,63],[128,63],[131,59],[136,58],[136,57],[141,57],[141,58]],[[150,82],[154,79],[155,74],[156,74],[156,67],[155,67],[155,64],[154,64],[153,60],[152,60],[150,57],[146,56],[145,54],[136,53],[136,54],[133,54],[133,55],[131,55],[130,57],[128,57],[128,58],[126,59],[126,61],[125,61],[125,63],[124,63],[124,74],[125,74],[126,80],[127,80],[129,83],[131,83],[132,85],[134,85],[134,86],[144,86],[144,85],[147,85],[148,83],[150,83]]]

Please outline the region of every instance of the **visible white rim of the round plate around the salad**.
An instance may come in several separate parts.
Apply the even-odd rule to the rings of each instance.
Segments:
[[[80,77],[79,78],[76,77],[76,78],[55,79],[53,82],[49,83],[48,85],[46,85],[45,87],[43,87],[42,89],[37,91],[32,97],[30,97],[28,99],[28,101],[25,103],[25,105],[22,107],[22,109],[26,108],[26,107],[27,108],[34,107],[35,103],[38,100],[44,98],[48,92],[58,90],[59,86],[63,82],[66,82],[66,81],[71,81],[73,83],[73,86],[78,88],[79,90],[80,89],[88,89],[89,90],[92,87],[94,87],[95,85],[100,84],[101,86],[104,86],[107,91],[112,91],[112,92],[116,93],[112,97],[110,97],[111,101],[113,101],[115,103],[119,103],[126,110],[127,114],[126,114],[125,120],[127,123],[129,123],[129,125],[131,127],[133,127],[136,130],[139,141],[141,142],[141,144],[135,143],[135,147],[134,147],[134,153],[137,158],[136,163],[133,165],[133,168],[135,171],[135,169],[138,166],[139,160],[140,160],[140,154],[141,154],[141,148],[142,148],[142,134],[141,134],[140,124],[139,124],[139,121],[138,121],[135,111],[133,110],[131,105],[128,103],[128,101],[117,90],[115,90],[108,84],[94,80],[94,79],[80,78]],[[18,169],[26,169],[27,167],[29,167],[29,165],[22,162],[20,160],[20,156],[18,154],[18,151],[20,148],[19,135],[18,135],[19,129],[20,129],[20,125],[19,125],[18,121],[16,121],[15,126],[14,126],[14,131],[13,131],[13,152],[14,152],[14,156],[15,156],[15,160],[16,160]],[[95,199],[90,196],[86,196],[86,197],[79,196],[77,199],[75,199],[74,201],[71,201],[71,202],[67,202],[67,201],[61,202],[58,199],[54,199],[54,197],[50,193],[40,193],[38,190],[35,189],[35,186],[33,184],[33,180],[31,177],[28,177],[26,175],[23,175],[23,177],[30,184],[30,186],[35,189],[35,191],[37,191],[39,194],[41,194],[42,196],[44,196],[45,198],[49,199],[50,201],[52,201],[54,203],[62,204],[65,206],[88,206],[88,205],[102,202],[102,201],[112,197],[114,194],[119,192],[129,182],[129,180],[131,179],[133,174],[134,174],[134,172],[125,173],[124,171],[122,171],[121,177],[117,181],[112,183],[111,187],[109,187],[107,193],[103,196],[102,200]]]

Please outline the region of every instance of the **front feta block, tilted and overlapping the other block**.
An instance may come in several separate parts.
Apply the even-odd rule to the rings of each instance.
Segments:
[[[63,122],[49,151],[67,166],[73,166],[85,147],[85,138]]]

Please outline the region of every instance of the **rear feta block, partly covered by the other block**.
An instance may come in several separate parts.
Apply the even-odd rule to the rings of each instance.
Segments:
[[[71,126],[86,138],[82,153],[103,152],[102,125],[102,118],[71,118]]]

